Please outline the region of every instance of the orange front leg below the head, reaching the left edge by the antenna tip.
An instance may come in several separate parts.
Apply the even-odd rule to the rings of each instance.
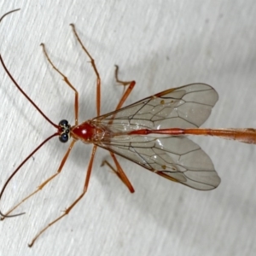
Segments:
[[[15,205],[15,207],[12,207],[9,212],[7,212],[5,215],[8,216],[9,213],[13,212],[17,207],[19,207],[23,202],[25,202],[26,200],[28,200],[30,197],[32,197],[32,195],[37,194],[40,190],[42,190],[44,188],[44,186],[49,183],[52,179],[54,179],[58,174],[61,173],[62,167],[65,165],[66,160],[68,155],[70,154],[71,149],[73,148],[73,145],[76,141],[73,140],[72,143],[70,144],[69,148],[67,149],[66,154],[64,155],[63,159],[61,160],[61,165],[58,168],[58,171],[52,175],[51,177],[49,177],[47,180],[44,181],[44,183],[41,183],[38,186],[38,189],[36,189],[35,191],[33,191],[30,195],[27,195],[22,201],[20,201],[17,205]],[[5,217],[0,218],[1,220],[3,220]]]

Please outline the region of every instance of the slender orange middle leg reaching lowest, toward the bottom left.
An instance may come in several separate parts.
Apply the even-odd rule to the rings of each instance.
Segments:
[[[89,185],[89,181],[90,181],[90,173],[91,173],[91,169],[92,169],[92,164],[93,164],[93,160],[94,160],[94,157],[95,157],[95,154],[96,154],[96,148],[97,146],[94,145],[93,149],[92,149],[92,153],[91,153],[91,156],[90,156],[90,163],[89,163],[89,166],[88,166],[88,169],[87,169],[87,172],[86,172],[86,177],[85,177],[85,183],[84,183],[84,189],[83,189],[83,192],[81,195],[79,195],[79,197],[73,201],[73,204],[70,205],[69,207],[67,207],[66,211],[61,214],[60,217],[58,218],[55,218],[54,221],[52,221],[51,223],[49,223],[43,230],[41,230],[37,236],[35,236],[33,239],[32,239],[32,242],[28,245],[29,247],[32,247],[33,243],[38,239],[39,236],[41,236],[45,230],[48,230],[49,227],[53,224],[55,224],[57,221],[59,221],[61,218],[65,217],[72,209],[73,207],[83,198],[84,194],[86,193],[87,189],[88,189],[88,185]]]

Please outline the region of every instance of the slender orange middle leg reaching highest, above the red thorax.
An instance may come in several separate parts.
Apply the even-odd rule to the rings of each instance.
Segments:
[[[81,45],[82,49],[84,49],[84,52],[90,58],[90,64],[93,67],[94,72],[96,73],[96,78],[97,78],[97,82],[96,82],[96,109],[97,109],[97,116],[100,116],[100,114],[101,114],[101,77],[100,77],[100,74],[99,74],[99,72],[96,68],[96,64],[95,64],[94,59],[90,55],[89,51],[84,47],[84,44],[82,43],[81,39],[79,38],[79,35],[76,31],[75,26],[73,24],[70,24],[70,26],[72,26],[74,35],[78,39],[79,44]]]

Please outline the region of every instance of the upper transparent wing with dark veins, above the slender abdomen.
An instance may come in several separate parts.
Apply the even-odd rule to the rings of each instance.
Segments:
[[[125,108],[93,119],[113,131],[195,128],[208,118],[218,93],[207,84],[189,84],[162,91]]]

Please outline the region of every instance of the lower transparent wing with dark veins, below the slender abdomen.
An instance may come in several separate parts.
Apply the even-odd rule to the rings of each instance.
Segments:
[[[193,189],[215,189],[220,183],[212,160],[188,137],[124,135],[97,145]]]

